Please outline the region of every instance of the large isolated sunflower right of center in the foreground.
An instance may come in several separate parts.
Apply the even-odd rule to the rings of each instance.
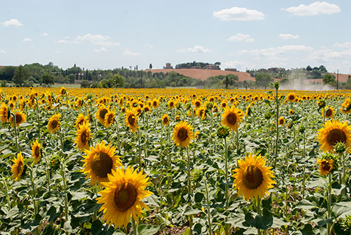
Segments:
[[[234,189],[238,189],[238,194],[242,194],[246,200],[258,199],[268,194],[268,189],[272,188],[276,182],[271,178],[274,177],[272,167],[265,166],[266,160],[261,155],[245,156],[245,159],[238,161],[239,168],[234,171]]]

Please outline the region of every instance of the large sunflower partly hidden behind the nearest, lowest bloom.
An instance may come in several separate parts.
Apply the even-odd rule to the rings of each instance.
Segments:
[[[83,156],[84,168],[81,172],[88,174],[86,179],[91,178],[91,185],[98,182],[101,187],[101,182],[108,181],[107,174],[111,174],[117,166],[122,166],[120,156],[114,155],[116,147],[112,147],[111,144],[106,146],[105,141],[90,147],[90,150],[85,149],[84,152],[86,156]]]

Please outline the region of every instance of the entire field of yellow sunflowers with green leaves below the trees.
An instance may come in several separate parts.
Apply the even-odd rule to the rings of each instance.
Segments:
[[[351,234],[351,93],[3,88],[0,234]]]

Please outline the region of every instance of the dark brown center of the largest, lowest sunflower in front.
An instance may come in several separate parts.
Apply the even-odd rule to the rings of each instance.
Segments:
[[[136,201],[138,192],[133,184],[124,183],[114,191],[114,203],[117,210],[124,212],[131,208]]]

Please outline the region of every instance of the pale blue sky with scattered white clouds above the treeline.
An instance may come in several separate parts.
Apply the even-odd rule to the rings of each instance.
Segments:
[[[3,1],[0,65],[351,68],[351,1]]]

